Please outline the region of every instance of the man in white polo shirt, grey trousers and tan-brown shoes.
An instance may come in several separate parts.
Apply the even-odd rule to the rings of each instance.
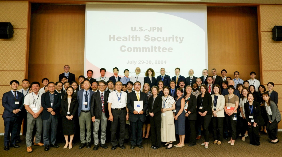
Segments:
[[[27,152],[32,152],[32,131],[36,124],[36,134],[34,145],[43,146],[41,143],[41,133],[43,121],[41,119],[41,113],[43,108],[41,107],[41,93],[39,92],[40,83],[32,82],[32,93],[27,95],[24,100],[25,109],[27,110],[27,135],[25,136],[25,142],[27,144]]]

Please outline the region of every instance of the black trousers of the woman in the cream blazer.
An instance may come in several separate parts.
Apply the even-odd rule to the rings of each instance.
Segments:
[[[213,140],[223,140],[223,119],[224,117],[212,117]]]

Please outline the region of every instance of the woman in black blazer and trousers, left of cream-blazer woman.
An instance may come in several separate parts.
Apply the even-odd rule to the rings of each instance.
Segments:
[[[211,110],[211,95],[208,93],[208,87],[206,85],[200,86],[201,95],[198,95],[197,98],[197,112],[200,115],[201,124],[205,133],[205,142],[202,145],[205,148],[209,147],[209,130],[208,127],[211,122],[212,110]]]

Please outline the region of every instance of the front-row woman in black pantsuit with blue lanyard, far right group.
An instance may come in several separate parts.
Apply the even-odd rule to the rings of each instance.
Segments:
[[[248,102],[244,104],[246,121],[248,122],[250,134],[250,145],[260,145],[259,126],[264,124],[261,116],[261,106],[254,101],[254,94],[248,93]]]

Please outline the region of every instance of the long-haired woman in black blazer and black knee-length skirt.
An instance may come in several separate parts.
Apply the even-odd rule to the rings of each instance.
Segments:
[[[61,107],[62,107],[62,124],[63,124],[63,134],[65,136],[66,144],[63,147],[64,149],[68,147],[69,149],[72,148],[72,139],[75,133],[75,116],[76,111],[78,109],[78,101],[74,96],[74,89],[72,86],[69,86],[66,89],[66,94],[62,98]],[[70,142],[69,136],[70,135]]]

